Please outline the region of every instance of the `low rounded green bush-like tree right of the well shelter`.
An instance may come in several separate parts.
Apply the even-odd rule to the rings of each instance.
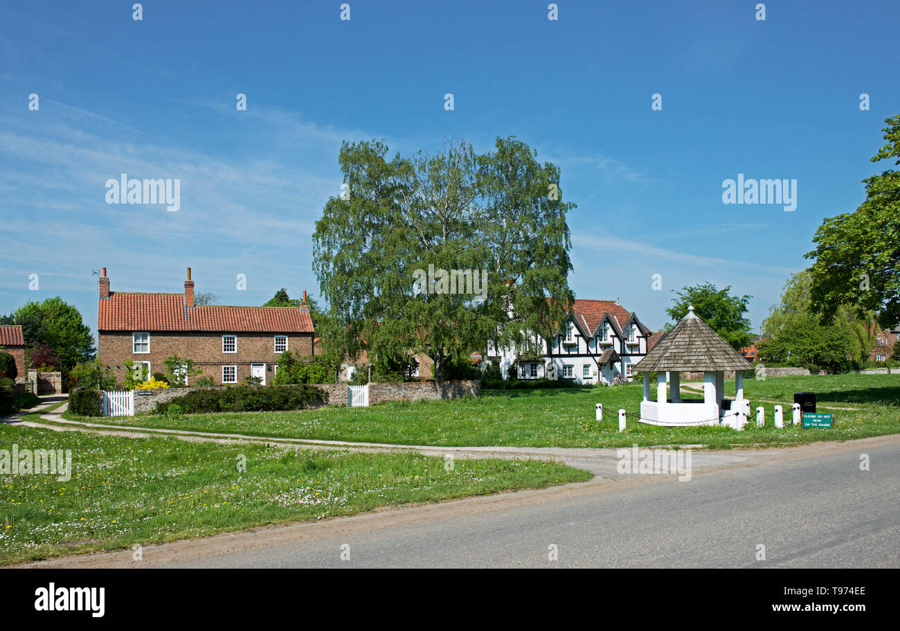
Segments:
[[[849,367],[849,351],[849,340],[841,329],[819,326],[815,320],[792,321],[759,346],[763,361],[819,366],[833,372]]]

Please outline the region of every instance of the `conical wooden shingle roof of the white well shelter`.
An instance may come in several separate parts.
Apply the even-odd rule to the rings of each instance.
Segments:
[[[753,370],[753,365],[700,320],[689,307],[684,317],[666,333],[635,370],[651,372]]]

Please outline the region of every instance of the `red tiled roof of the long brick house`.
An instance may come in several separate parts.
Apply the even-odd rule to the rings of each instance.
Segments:
[[[197,305],[185,309],[181,293],[110,292],[109,298],[100,300],[97,320],[102,331],[313,332],[310,312],[297,307]]]

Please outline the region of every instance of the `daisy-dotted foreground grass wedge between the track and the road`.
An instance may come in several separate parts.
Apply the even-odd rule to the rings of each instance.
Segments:
[[[589,480],[537,461],[279,449],[0,424],[0,449],[70,449],[67,482],[0,474],[0,564]],[[238,459],[246,470],[238,471]],[[122,554],[129,554],[127,551]]]

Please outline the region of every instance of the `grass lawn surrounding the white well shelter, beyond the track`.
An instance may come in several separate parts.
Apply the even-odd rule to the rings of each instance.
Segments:
[[[833,410],[832,429],[775,429],[774,403],[784,406],[790,422],[793,393],[817,392],[818,410],[829,405],[860,408]],[[682,386],[689,394],[689,388]],[[485,391],[479,399],[390,402],[370,408],[331,408],[286,412],[193,414],[179,421],[155,415],[90,419],[115,425],[182,428],[262,437],[295,437],[356,442],[431,446],[563,446],[618,447],[668,444],[776,446],[817,440],[846,440],[900,433],[900,375],[841,374],[833,376],[770,377],[744,380],[752,409],[766,409],[766,427],[660,428],[636,422],[643,386]],[[726,384],[734,396],[734,380]],[[697,394],[696,396],[700,396]],[[594,420],[595,404],[603,403],[604,420]],[[618,432],[617,410],[626,410],[628,426]],[[74,418],[74,417],[69,417]]]

